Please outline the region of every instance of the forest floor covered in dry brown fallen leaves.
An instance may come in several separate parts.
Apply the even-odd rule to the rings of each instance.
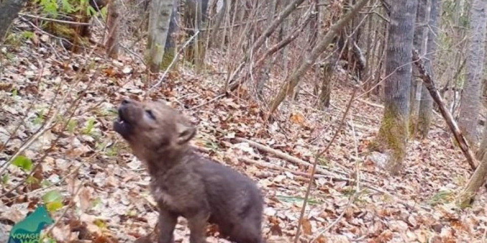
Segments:
[[[29,137],[44,133],[22,152],[34,167],[40,165],[32,176],[43,181],[23,183],[29,172],[12,165],[8,177],[2,178],[0,241],[2,227],[4,232],[11,227],[2,223],[18,222],[53,190],[61,192],[64,204],[52,214],[58,221],[52,229],[58,242],[89,236],[96,242],[132,242],[149,233],[157,220],[149,177],[112,130],[120,100],[142,99],[151,88],[143,79],[147,75],[141,62],[125,54],[103,62],[102,51],[68,59],[34,45],[1,51],[0,142],[5,149],[0,165]],[[268,242],[292,242],[309,165],[337,132],[353,86],[338,72],[331,107],[320,111],[304,82],[299,100],[286,100],[275,120],[267,123],[259,104],[245,93],[214,99],[224,84],[225,76],[218,74],[225,72],[224,60],[209,51],[207,63],[213,70],[208,74],[178,65],[151,96],[171,102],[198,125],[193,144],[202,154],[258,182],[266,198],[263,228]],[[85,66],[93,68],[77,80],[78,69]],[[274,76],[272,82],[281,78]],[[319,158],[300,242],[315,237],[316,242],[482,242],[487,228],[485,189],[471,209],[454,207],[454,196],[471,172],[443,119],[435,114],[428,138],[409,141],[403,170],[390,176],[366,155],[366,145],[379,128],[378,103],[366,96],[355,100],[336,139]],[[75,112],[66,123],[69,111]],[[43,129],[44,123],[52,129]],[[16,190],[9,192],[14,186]],[[180,222],[175,239],[189,242],[185,220]],[[208,242],[228,242],[216,237],[213,229],[208,236]]]

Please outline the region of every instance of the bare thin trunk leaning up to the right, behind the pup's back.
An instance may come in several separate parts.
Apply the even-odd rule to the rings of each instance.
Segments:
[[[279,107],[281,102],[286,97],[286,94],[292,94],[294,88],[299,83],[299,79],[304,75],[309,67],[311,67],[311,65],[315,63],[318,56],[320,56],[326,50],[328,45],[331,44],[331,42],[333,41],[333,37],[336,36],[336,34],[345,26],[345,24],[350,21],[359,12],[359,10],[364,7],[365,4],[367,4],[367,2],[368,0],[361,0],[352,8],[349,13],[345,14],[345,16],[338,20],[336,24],[330,27],[328,33],[326,33],[325,36],[321,38],[321,41],[317,44],[317,46],[314,47],[311,52],[306,55],[307,57],[304,57],[301,65],[299,65],[299,67],[293,71],[290,77],[285,80],[284,87],[281,88],[274,100],[272,100],[270,103],[270,113],[273,113],[275,109]]]

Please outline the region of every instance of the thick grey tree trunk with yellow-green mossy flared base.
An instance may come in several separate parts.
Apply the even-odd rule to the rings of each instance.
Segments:
[[[416,0],[398,0],[391,5],[391,22],[386,54],[385,108],[375,138],[375,148],[388,153],[386,169],[397,174],[406,157],[411,87],[412,39]]]

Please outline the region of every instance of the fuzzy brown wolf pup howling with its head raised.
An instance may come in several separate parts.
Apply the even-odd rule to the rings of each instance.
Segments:
[[[264,243],[264,201],[249,178],[197,154],[189,141],[195,127],[162,102],[123,100],[114,130],[142,160],[159,208],[159,243],[172,243],[177,218],[187,219],[191,243],[205,243],[206,223],[224,238]]]

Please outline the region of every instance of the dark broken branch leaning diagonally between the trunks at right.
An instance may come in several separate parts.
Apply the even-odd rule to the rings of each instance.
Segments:
[[[438,108],[440,109],[441,115],[446,121],[446,124],[448,124],[448,127],[450,128],[451,132],[453,132],[455,139],[457,140],[458,144],[460,145],[460,149],[462,150],[463,154],[467,158],[468,164],[472,168],[472,170],[475,170],[475,168],[478,165],[478,161],[475,158],[475,155],[472,153],[472,150],[470,150],[470,147],[468,146],[467,140],[465,140],[465,137],[462,135],[462,132],[457,126],[457,123],[455,122],[455,119],[451,115],[450,111],[446,108],[443,99],[440,96],[440,93],[435,87],[435,83],[433,78],[431,78],[430,73],[428,72],[428,69],[426,68],[423,60],[420,59],[418,55],[418,51],[413,50],[412,51],[412,61],[414,64],[418,67],[419,73],[421,78],[423,79],[423,83],[425,84],[425,87],[428,89],[430,92],[431,97],[435,101],[435,103],[438,105]]]

